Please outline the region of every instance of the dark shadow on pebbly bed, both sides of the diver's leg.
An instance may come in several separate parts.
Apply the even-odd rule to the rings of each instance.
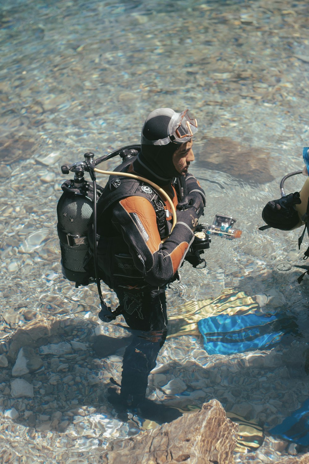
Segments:
[[[244,280],[242,288],[246,287]],[[169,326],[173,330],[172,321]],[[98,323],[76,315],[62,319],[48,316],[27,322],[12,336],[2,338],[1,420],[13,419],[38,432],[65,432],[76,423],[77,416],[87,419],[101,414],[117,419],[114,405],[107,400],[108,389],[116,387],[117,391],[111,378],[121,383],[122,356],[132,333],[128,330],[116,338],[96,335],[98,327]],[[296,383],[303,385],[308,374],[305,341],[301,346],[284,342],[284,353],[283,344],[278,342],[271,350],[247,356],[210,356],[200,335],[196,359],[184,356],[173,360],[170,350],[175,343],[179,352],[188,353],[187,339],[180,336],[175,340],[171,335],[162,347],[158,366],[149,376],[147,397],[154,403],[190,412],[215,398],[227,412],[259,424],[265,431],[299,407]],[[281,391],[274,396],[276,382],[281,383]],[[270,409],[273,398],[276,405]]]

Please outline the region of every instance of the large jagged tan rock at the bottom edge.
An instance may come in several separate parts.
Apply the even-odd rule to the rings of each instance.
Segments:
[[[227,419],[221,403],[210,400],[202,409],[170,424],[114,440],[101,454],[102,464],[233,464],[238,425]]]

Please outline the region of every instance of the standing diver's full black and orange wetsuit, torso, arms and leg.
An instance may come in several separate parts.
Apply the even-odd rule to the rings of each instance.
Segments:
[[[132,165],[125,162],[115,170],[130,169]],[[166,338],[164,290],[166,284],[177,278],[177,270],[194,240],[198,216],[192,207],[177,211],[177,223],[162,243],[155,211],[158,204],[156,192],[151,187],[150,197],[145,198],[141,196],[142,189],[149,194],[149,185],[137,180],[126,184],[119,178],[115,183],[115,177],[110,177],[105,193],[98,201],[97,232],[100,239],[97,257],[102,280],[116,292],[122,315],[133,330],[132,341],[123,357],[120,397],[115,399],[114,395],[114,401],[137,405],[145,398],[148,374],[155,367],[158,352]],[[205,193],[198,181],[191,174],[187,174],[186,179],[188,193],[201,193],[201,201],[205,205]],[[110,203],[109,198],[115,198],[121,184],[124,193],[127,187],[130,196]],[[178,197],[175,186],[170,183],[161,188],[170,195],[176,208]],[[154,195],[157,199],[150,201]],[[165,224],[168,231],[172,211],[168,202],[161,200],[164,211],[167,211],[164,220],[168,216]],[[110,206],[105,208],[106,204]]]

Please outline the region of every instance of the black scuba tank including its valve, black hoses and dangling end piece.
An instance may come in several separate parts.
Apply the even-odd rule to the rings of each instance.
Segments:
[[[96,203],[103,192],[103,188],[97,185],[95,166],[102,161],[120,155],[122,159],[137,155],[140,146],[114,150],[108,155],[95,160],[93,153],[85,153],[85,161],[77,161],[70,166],[64,164],[61,167],[63,174],[74,172],[74,180],[63,182],[61,188],[63,194],[57,204],[57,232],[61,248],[61,264],[63,277],[75,282],[75,286],[97,284],[100,297],[101,311],[99,317],[104,322],[110,322],[121,314],[121,307],[112,311],[103,300],[100,276],[98,273],[96,257]],[[84,180],[84,171],[90,174],[92,186]],[[88,229],[93,231],[93,254],[90,252]]]

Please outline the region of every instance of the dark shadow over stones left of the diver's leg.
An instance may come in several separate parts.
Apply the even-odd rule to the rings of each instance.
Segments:
[[[88,409],[115,417],[113,406],[100,400],[107,397],[109,379],[120,370],[121,349],[131,337],[95,335],[97,327],[78,316],[48,316],[2,338],[2,418],[37,431],[64,432],[75,416],[87,415]],[[114,360],[107,359],[116,352]]]

